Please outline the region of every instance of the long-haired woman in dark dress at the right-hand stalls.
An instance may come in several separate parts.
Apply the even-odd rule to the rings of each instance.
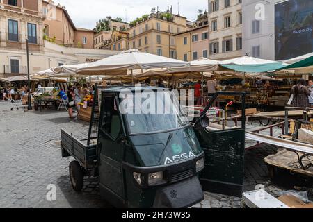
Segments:
[[[301,79],[297,85],[294,85],[291,89],[291,93],[294,96],[292,105],[295,107],[307,108],[310,107],[309,97],[311,92],[306,86],[304,79]]]

